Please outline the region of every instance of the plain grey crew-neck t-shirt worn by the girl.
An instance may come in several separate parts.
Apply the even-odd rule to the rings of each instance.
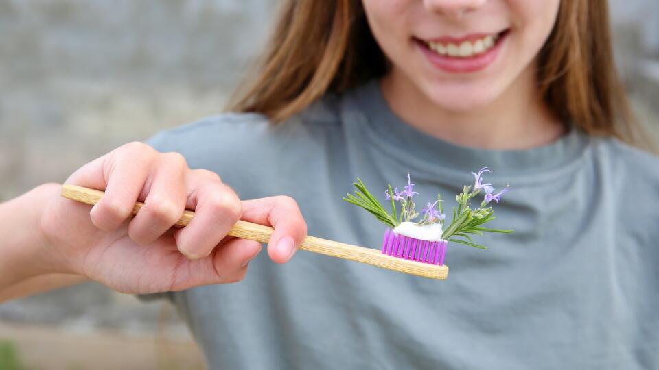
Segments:
[[[523,151],[461,147],[397,118],[371,82],[277,127],[225,114],[150,143],[218,173],[242,199],[290,195],[310,235],[378,248],[384,225],[342,201],[416,184],[446,208],[470,171],[511,185],[448,280],[299,251],[262,253],[237,284],[167,293],[211,369],[657,369],[659,159],[571,130]],[[449,215],[450,217],[450,215]]]

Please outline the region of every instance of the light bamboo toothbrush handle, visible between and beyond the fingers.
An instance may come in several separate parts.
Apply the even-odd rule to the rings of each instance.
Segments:
[[[62,197],[85,204],[97,204],[103,195],[104,193],[102,191],[83,188],[82,186],[69,184],[62,186]],[[144,204],[141,202],[135,203],[135,207],[132,209],[132,214],[137,214],[143,205]],[[183,213],[183,217],[176,222],[176,225],[184,227],[190,220],[192,220],[192,217],[194,217],[194,212],[186,210]],[[268,240],[270,240],[272,233],[272,227],[246,221],[238,221],[233,225],[233,228],[229,232],[229,236],[267,243]],[[389,243],[391,243],[391,241]],[[307,236],[300,246],[300,249],[303,251],[312,251],[327,256],[343,258],[345,260],[372,264],[373,266],[381,267],[383,269],[428,277],[430,279],[446,279],[448,276],[448,266],[446,266],[446,264],[438,265],[399,258],[395,256],[395,253],[391,253],[391,249],[389,254],[394,254],[394,256],[383,254],[383,252],[386,253],[386,251],[338,243],[332,240],[316,238],[314,236]],[[437,262],[437,258],[435,258],[435,262]]]

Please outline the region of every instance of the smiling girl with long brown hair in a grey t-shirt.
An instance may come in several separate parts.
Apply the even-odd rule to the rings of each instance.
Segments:
[[[174,302],[211,369],[657,367],[659,160],[627,144],[606,5],[287,1],[236,113],[150,140],[187,165],[137,144],[92,162],[68,180],[106,188],[91,221],[35,190],[41,247],[3,262],[14,295],[46,273],[159,293],[144,297]],[[274,225],[275,262],[305,223],[375,246],[382,226],[340,202],[356,177],[446,195],[485,166],[512,189],[493,226],[516,231],[450,247],[446,281],[303,253],[244,275],[259,245],[224,238],[239,218]],[[167,231],[185,207],[196,221]]]

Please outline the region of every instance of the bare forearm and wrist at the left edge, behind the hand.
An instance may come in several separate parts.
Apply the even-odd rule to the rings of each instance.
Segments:
[[[47,184],[0,204],[0,300],[61,286],[47,282],[67,271],[54,268],[59,256],[40,231],[41,212],[57,192],[56,184]]]

